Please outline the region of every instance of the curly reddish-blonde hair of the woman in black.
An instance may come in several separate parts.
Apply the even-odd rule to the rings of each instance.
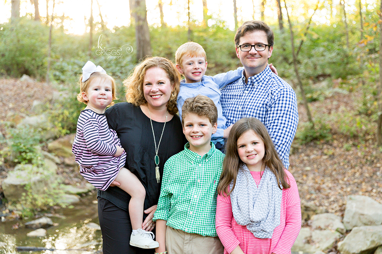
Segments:
[[[152,67],[163,69],[167,73],[171,85],[173,85],[170,99],[167,103],[167,109],[170,114],[175,115],[178,113],[177,98],[181,85],[181,74],[178,72],[173,62],[164,57],[146,58],[134,68],[133,73],[123,81],[123,85],[126,87],[126,100],[137,107],[147,103],[142,86],[146,71]]]

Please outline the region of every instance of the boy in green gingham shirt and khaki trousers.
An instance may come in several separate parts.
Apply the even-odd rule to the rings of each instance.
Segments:
[[[224,154],[211,142],[217,108],[204,95],[186,99],[182,107],[185,150],[167,160],[156,221],[156,253],[222,254],[215,230],[216,187]],[[167,226],[166,226],[167,225]]]

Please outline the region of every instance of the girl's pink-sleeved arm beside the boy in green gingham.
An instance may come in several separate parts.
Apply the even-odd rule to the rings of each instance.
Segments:
[[[215,219],[217,235],[228,253],[241,254],[243,252],[239,247],[240,242],[232,231],[232,217],[230,196],[225,196],[223,193],[217,195]]]

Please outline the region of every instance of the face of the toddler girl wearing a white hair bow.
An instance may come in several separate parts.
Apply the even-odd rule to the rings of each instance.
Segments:
[[[88,89],[82,92],[82,97],[87,101],[87,108],[103,114],[113,98],[111,81],[102,78],[93,80]]]

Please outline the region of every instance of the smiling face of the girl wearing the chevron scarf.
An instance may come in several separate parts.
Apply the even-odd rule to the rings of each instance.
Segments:
[[[250,171],[261,171],[265,146],[263,140],[253,130],[244,132],[236,141],[240,160]]]

